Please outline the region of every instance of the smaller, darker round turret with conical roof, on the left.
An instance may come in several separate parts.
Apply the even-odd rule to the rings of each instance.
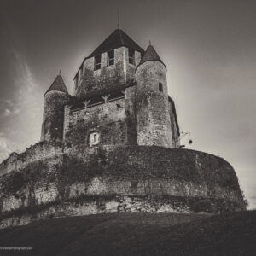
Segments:
[[[60,74],[44,95],[44,118],[41,141],[62,140],[64,106],[67,100],[67,87]]]

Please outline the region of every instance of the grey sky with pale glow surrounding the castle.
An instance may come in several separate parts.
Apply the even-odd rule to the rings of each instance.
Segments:
[[[44,92],[61,70],[73,93],[84,57],[120,27],[167,67],[186,148],[236,170],[256,208],[256,2],[0,0],[0,161],[40,139]],[[189,138],[193,140],[188,143]]]

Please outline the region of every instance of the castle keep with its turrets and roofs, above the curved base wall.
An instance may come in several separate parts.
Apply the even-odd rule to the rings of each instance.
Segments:
[[[45,93],[42,141],[179,146],[166,66],[152,45],[144,51],[115,30],[84,59],[73,92],[58,75]]]

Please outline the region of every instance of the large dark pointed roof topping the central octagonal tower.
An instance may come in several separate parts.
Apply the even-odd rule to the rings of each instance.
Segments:
[[[116,49],[122,46],[126,46],[131,49],[135,49],[139,52],[144,52],[144,50],[135,43],[124,31],[117,28],[114,30],[108,38],[106,38],[102,44],[100,44],[90,55],[89,57],[93,57],[96,55],[100,55],[103,52],[108,51],[109,49]]]

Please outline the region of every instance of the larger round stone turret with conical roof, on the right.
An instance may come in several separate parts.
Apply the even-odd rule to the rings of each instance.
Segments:
[[[152,45],[136,70],[137,144],[172,147],[166,66]]]

